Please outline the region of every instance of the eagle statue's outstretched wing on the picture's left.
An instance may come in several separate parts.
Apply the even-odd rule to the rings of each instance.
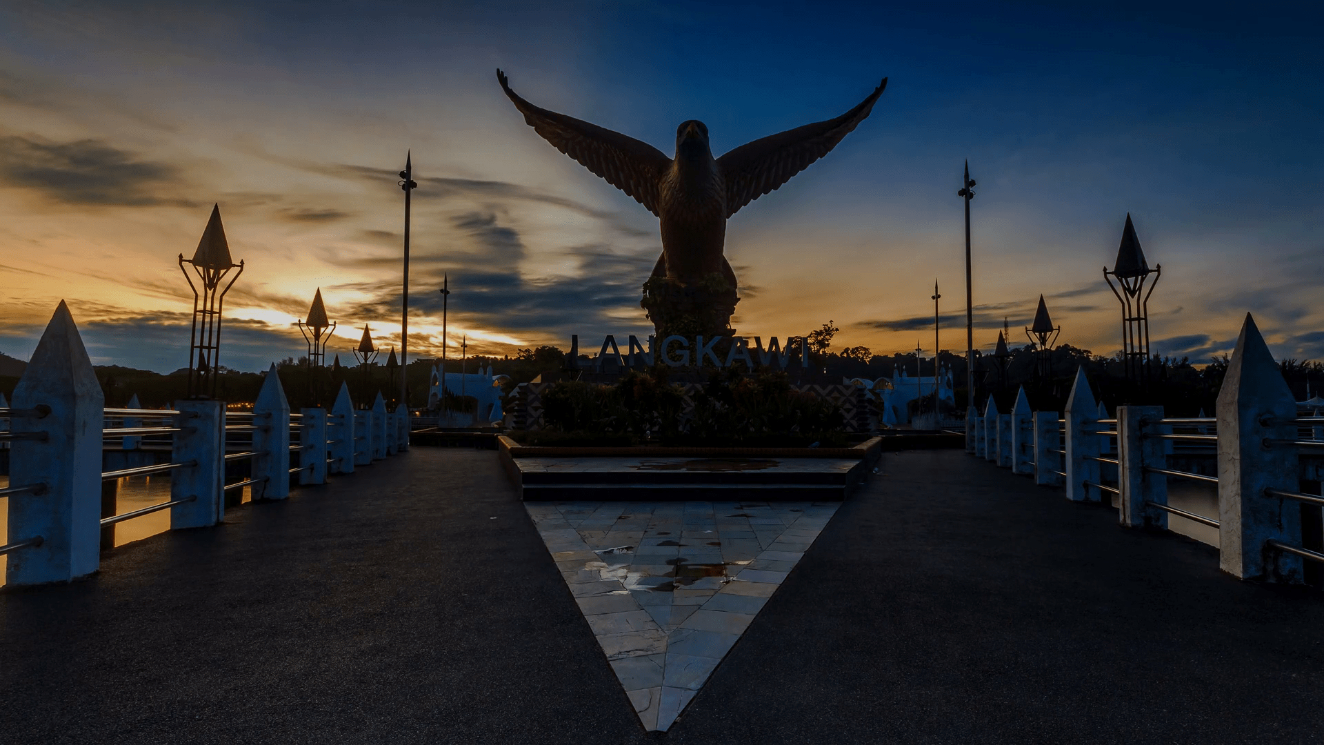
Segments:
[[[633,137],[534,106],[515,95],[506,73],[500,70],[496,70],[496,80],[519,113],[524,114],[528,126],[543,139],[633,196],[649,212],[658,213],[658,184],[671,167],[671,159],[661,150]]]

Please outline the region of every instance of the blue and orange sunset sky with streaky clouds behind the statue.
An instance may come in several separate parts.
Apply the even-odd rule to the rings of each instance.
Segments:
[[[328,359],[363,326],[400,343],[413,155],[410,355],[596,346],[651,326],[657,219],[524,125],[528,101],[714,155],[873,114],[736,213],[741,335],[833,321],[835,346],[1025,342],[1039,294],[1059,343],[1120,347],[1103,280],[1129,212],[1155,353],[1231,351],[1247,312],[1275,355],[1324,358],[1324,12],[1311,4],[30,3],[0,4],[0,351],[26,359],[66,300],[95,363],[187,365],[191,257],[220,204],[242,276],[222,365],[305,354],[320,288]],[[1078,5],[1078,4],[1064,4]]]

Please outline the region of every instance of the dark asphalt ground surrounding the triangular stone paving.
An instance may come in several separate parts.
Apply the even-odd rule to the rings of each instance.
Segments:
[[[413,448],[0,593],[0,742],[1320,742],[1324,597],[887,453],[646,734],[496,453]]]

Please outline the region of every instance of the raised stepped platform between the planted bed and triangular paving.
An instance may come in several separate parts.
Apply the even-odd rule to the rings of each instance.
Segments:
[[[874,437],[854,448],[531,448],[498,437],[520,498],[843,500],[882,452]]]

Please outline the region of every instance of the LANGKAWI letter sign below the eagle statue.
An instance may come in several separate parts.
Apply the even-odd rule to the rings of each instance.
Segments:
[[[753,346],[749,346],[749,339],[753,339]],[[759,365],[776,366],[782,370],[790,363],[792,350],[797,346],[800,347],[800,354],[797,359],[800,367],[805,367],[809,359],[809,346],[804,337],[788,337],[785,345],[777,341],[777,337],[768,339],[768,346],[763,346],[761,337],[666,337],[662,343],[655,343],[657,337],[649,335],[647,349],[639,343],[639,338],[634,334],[629,335],[626,341],[625,354],[621,354],[621,349],[616,343],[616,337],[608,334],[602,339],[602,349],[597,353],[597,359],[594,365],[601,365],[609,359],[614,361],[616,365],[621,367],[634,367],[636,365],[653,366],[657,362],[662,362],[669,367],[702,367],[704,365],[712,365],[715,367],[731,367],[736,362],[744,362],[747,367],[753,369],[755,358],[757,358]],[[728,342],[728,343],[722,343]],[[718,349],[718,346],[724,349]],[[579,359],[579,337],[571,337],[571,359]]]

